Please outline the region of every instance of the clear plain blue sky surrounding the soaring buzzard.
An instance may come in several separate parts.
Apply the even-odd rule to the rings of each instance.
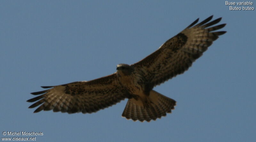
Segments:
[[[222,17],[227,33],[187,72],[154,88],[177,101],[172,114],[149,123],[126,120],[127,99],[93,114],[28,108],[40,86],[112,74],[117,64],[143,59],[211,15]],[[255,17],[255,10],[230,11],[225,1],[212,0],[1,1],[0,136],[41,131],[36,141],[254,141]]]

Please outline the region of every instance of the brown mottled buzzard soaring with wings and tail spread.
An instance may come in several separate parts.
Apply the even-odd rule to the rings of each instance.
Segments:
[[[166,116],[174,109],[176,101],[152,89],[188,70],[219,35],[226,33],[215,31],[226,24],[212,26],[221,20],[218,18],[209,22],[212,17],[195,25],[198,18],[141,61],[132,65],[118,64],[112,75],[91,81],[42,86],[49,89],[31,93],[40,96],[27,100],[36,101],[29,108],[40,105],[34,113],[53,110],[85,114],[97,112],[127,98],[122,114],[127,119],[149,122]]]

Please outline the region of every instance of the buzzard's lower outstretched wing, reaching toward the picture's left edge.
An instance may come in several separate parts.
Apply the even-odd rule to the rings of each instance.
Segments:
[[[91,81],[68,83],[58,86],[42,86],[52,88],[31,93],[38,97],[27,100],[35,102],[29,108],[39,106],[34,113],[41,110],[68,113],[92,113],[126,98],[125,92],[117,81],[117,75],[112,74]]]

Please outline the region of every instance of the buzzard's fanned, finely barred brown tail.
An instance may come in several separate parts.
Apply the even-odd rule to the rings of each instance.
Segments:
[[[175,100],[154,90],[149,92],[148,100],[148,105],[144,105],[140,99],[129,99],[122,116],[133,121],[139,120],[143,122],[146,120],[150,122],[152,119],[156,120],[157,118],[166,116],[166,113],[171,113],[176,105]]]

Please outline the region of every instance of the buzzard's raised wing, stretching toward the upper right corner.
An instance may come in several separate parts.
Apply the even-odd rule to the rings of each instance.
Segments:
[[[131,65],[144,75],[149,90],[188,70],[192,62],[202,56],[219,35],[226,33],[226,31],[212,32],[226,25],[213,26],[219,23],[221,18],[209,22],[212,17],[195,25],[199,20],[197,19],[178,35],[167,40],[158,50]]]

